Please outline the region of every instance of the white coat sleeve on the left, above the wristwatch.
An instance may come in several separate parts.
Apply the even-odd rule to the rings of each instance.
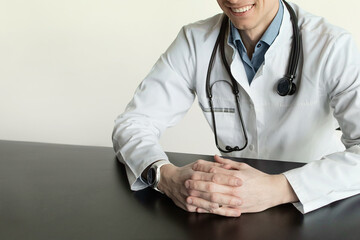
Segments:
[[[140,178],[147,166],[168,160],[159,138],[185,115],[195,98],[194,54],[186,32],[186,28],[179,32],[115,120],[113,147],[134,191],[147,187]]]

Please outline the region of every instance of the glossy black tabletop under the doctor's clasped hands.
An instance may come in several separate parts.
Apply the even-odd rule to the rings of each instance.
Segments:
[[[211,156],[168,153],[175,165]],[[237,159],[268,173],[299,163]],[[111,148],[0,141],[0,239],[360,239],[360,195],[227,218],[132,192]]]

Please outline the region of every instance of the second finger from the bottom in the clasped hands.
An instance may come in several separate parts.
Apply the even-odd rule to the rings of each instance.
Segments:
[[[201,198],[209,202],[218,203],[219,205],[223,206],[239,207],[242,205],[242,201],[239,197],[222,193],[207,193],[190,190],[189,195],[190,196],[187,197],[187,200],[190,199],[192,202],[196,202],[196,198]]]

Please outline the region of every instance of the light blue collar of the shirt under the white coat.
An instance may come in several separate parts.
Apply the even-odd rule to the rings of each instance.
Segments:
[[[279,0],[279,10],[278,10],[275,18],[271,22],[270,26],[267,28],[266,32],[262,35],[259,42],[264,42],[268,46],[270,46],[275,41],[275,38],[277,37],[277,35],[279,34],[279,31],[280,31],[283,15],[284,15],[284,6],[283,6],[282,1]],[[237,44],[236,44],[237,41],[239,41],[241,43],[240,45],[242,47],[242,50],[246,52],[246,48],[241,39],[239,31],[236,29],[234,24],[232,22],[230,22],[229,43],[233,44],[234,47],[237,47]]]

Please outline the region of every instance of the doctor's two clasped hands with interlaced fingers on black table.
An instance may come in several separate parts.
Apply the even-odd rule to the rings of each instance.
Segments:
[[[159,189],[189,212],[233,217],[288,201],[289,184],[284,175],[269,175],[219,156],[214,159],[180,168],[165,165]]]

